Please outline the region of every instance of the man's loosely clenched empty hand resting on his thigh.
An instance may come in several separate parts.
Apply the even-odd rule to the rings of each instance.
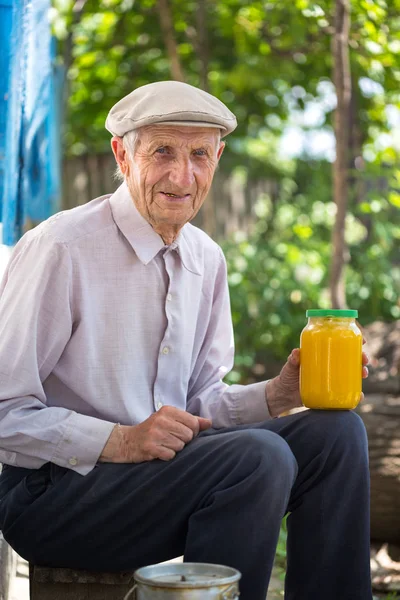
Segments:
[[[211,421],[163,406],[140,425],[116,425],[104,446],[100,462],[140,463],[160,458],[171,460]]]

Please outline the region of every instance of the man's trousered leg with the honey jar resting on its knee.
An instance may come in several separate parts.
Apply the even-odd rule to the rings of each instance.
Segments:
[[[371,600],[365,428],[350,411],[304,411],[264,424],[298,463],[288,510],[286,600]]]

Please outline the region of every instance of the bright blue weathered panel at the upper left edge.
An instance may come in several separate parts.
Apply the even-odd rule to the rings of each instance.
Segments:
[[[0,201],[3,243],[60,205],[60,92],[50,0],[0,0]]]

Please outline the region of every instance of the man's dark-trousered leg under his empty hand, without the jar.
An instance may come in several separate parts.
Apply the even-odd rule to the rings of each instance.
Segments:
[[[7,469],[0,477],[5,538],[34,564],[92,570],[135,569],[184,553],[186,561],[236,567],[241,598],[265,600],[296,460],[270,431],[210,434],[172,461],[102,464],[85,477],[50,464]]]

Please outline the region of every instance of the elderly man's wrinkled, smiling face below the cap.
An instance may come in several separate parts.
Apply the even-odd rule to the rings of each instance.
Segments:
[[[121,147],[122,141],[113,139],[118,160],[121,148],[115,140]],[[153,125],[140,130],[134,161],[125,153],[123,163],[118,162],[136,207],[156,231],[177,232],[193,219],[224,146],[213,128]]]

